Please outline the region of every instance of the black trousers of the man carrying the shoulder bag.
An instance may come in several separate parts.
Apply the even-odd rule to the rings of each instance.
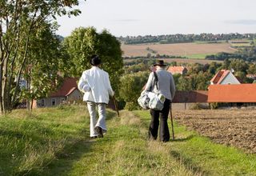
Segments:
[[[170,100],[166,99],[162,110],[150,110],[151,122],[149,130],[149,138],[158,138],[158,126],[159,126],[159,115],[160,115],[160,131],[159,136],[162,142],[170,140],[170,132],[167,124],[168,114],[170,111]]]

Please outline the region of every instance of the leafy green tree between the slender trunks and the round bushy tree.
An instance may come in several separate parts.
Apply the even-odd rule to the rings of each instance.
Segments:
[[[66,59],[62,56],[61,42],[54,34],[54,24],[42,26],[45,27],[30,35],[30,53],[22,72],[27,85],[22,89],[21,98],[27,100],[28,109],[33,106],[34,99],[45,98],[55,90],[61,81],[58,72],[65,72]]]

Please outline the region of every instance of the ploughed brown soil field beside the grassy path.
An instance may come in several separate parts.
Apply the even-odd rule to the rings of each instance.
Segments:
[[[256,110],[176,110],[174,118],[214,142],[256,154]]]

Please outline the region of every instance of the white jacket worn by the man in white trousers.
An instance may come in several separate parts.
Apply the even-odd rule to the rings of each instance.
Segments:
[[[82,72],[78,82],[78,89],[84,93],[83,101],[108,103],[114,91],[110,85],[109,74],[93,66],[90,70]]]

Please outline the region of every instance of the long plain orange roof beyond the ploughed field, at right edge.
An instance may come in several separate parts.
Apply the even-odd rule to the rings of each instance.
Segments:
[[[210,85],[208,102],[256,102],[256,84]]]

